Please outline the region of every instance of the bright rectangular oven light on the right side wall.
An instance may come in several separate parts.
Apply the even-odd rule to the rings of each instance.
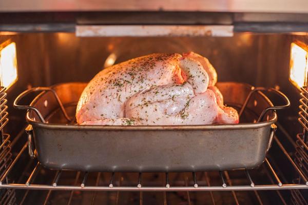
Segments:
[[[297,88],[307,85],[308,47],[297,43],[291,44],[290,81]],[[303,48],[304,47],[304,48]]]

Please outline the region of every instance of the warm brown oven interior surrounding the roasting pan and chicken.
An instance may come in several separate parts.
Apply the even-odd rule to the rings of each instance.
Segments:
[[[75,33],[0,33],[0,44],[16,44],[16,83],[6,90],[8,123],[3,133],[10,143],[2,153],[6,167],[18,157],[6,177],[7,183],[23,184],[21,189],[1,189],[3,204],[306,204],[307,146],[303,126],[298,122],[300,90],[289,80],[291,43],[308,45],[307,34],[264,34],[238,32],[231,37],[77,37]],[[257,169],[197,173],[85,173],[48,170],[37,166],[27,153],[25,113],[15,110],[13,100],[24,90],[66,82],[88,82],[108,65],[110,58],[120,63],[150,53],[194,51],[209,59],[218,81],[237,81],[253,86],[274,87],[287,95],[291,107],[278,111],[277,131],[266,161]],[[111,57],[110,57],[111,56]],[[111,61],[112,61],[111,60]],[[113,62],[112,62],[113,63]],[[275,105],[283,100],[267,93]],[[24,99],[28,105],[35,95]],[[306,124],[305,124],[306,125]],[[3,135],[4,136],[4,135]],[[300,137],[297,137],[300,136]],[[3,140],[5,137],[3,137]],[[72,144],[74,142],[72,141]],[[303,144],[301,144],[303,143]],[[22,152],[21,152],[22,150]],[[11,156],[10,156],[11,155]],[[1,164],[0,164],[1,166]],[[5,170],[5,169],[4,169]],[[0,170],[1,171],[1,170]],[[3,172],[5,173],[5,172]],[[0,173],[1,174],[1,173]],[[1,175],[0,175],[1,176]],[[166,181],[168,179],[168,181]],[[168,182],[168,183],[167,183]],[[194,191],[198,186],[236,187],[274,185],[269,190]],[[27,183],[67,189],[29,190]],[[69,186],[187,187],[182,191],[92,191]],[[280,189],[299,184],[300,189]],[[9,188],[9,187],[7,187]]]

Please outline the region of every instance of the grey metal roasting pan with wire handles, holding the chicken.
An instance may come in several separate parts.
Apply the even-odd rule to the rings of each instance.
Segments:
[[[290,106],[273,88],[218,83],[225,103],[238,109],[240,124],[202,126],[79,126],[75,107],[86,83],[31,88],[14,101],[28,110],[28,150],[46,168],[106,172],[196,172],[251,169],[265,159],[276,130],[276,110]],[[30,106],[18,105],[38,94]],[[273,106],[261,92],[285,100]],[[267,92],[266,92],[267,93]]]

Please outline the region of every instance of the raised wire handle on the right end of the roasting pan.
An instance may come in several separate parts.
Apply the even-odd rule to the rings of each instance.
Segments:
[[[285,94],[283,94],[281,91],[275,89],[275,88],[264,88],[264,87],[257,87],[257,88],[252,88],[252,91],[249,92],[248,96],[246,97],[245,99],[245,102],[240,110],[240,113],[239,113],[239,116],[242,115],[243,111],[245,110],[247,104],[248,104],[248,101],[249,99],[251,98],[251,96],[253,95],[254,92],[256,91],[268,91],[268,92],[273,92],[277,95],[279,95],[281,98],[283,98],[283,100],[285,101],[285,105],[282,105],[282,106],[272,106],[272,107],[267,107],[265,108],[261,115],[259,116],[258,118],[258,121],[257,122],[260,122],[261,119],[264,117],[264,115],[269,111],[269,110],[282,110],[282,109],[285,109],[285,108],[288,108],[290,107],[290,100],[287,98],[287,96]]]

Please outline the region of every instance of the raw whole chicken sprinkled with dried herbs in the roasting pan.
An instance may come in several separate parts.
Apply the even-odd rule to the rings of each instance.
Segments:
[[[76,109],[80,125],[235,124],[235,109],[223,104],[217,73],[194,53],[151,54],[99,72]]]

